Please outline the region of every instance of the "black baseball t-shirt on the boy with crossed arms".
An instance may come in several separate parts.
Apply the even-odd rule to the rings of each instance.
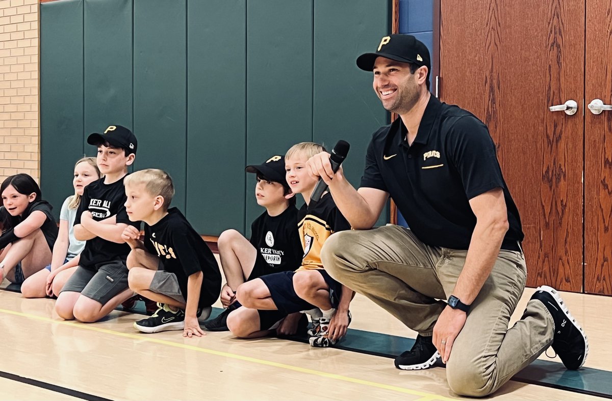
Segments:
[[[123,179],[125,176],[112,184],[105,184],[104,178],[94,181],[83,190],[81,203],[76,211],[75,223],[81,224],[81,214],[84,211],[91,212],[93,219],[97,222],[116,216],[116,223],[125,223],[140,229],[140,222],[130,222],[125,212],[125,188]],[[130,253],[130,246],[117,244],[109,240],[95,237],[85,242],[81,252],[80,266],[85,269],[97,270],[100,264],[125,259]]]

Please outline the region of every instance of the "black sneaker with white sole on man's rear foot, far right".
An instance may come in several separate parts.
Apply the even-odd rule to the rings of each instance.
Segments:
[[[531,299],[542,302],[553,316],[553,350],[565,367],[576,370],[583,366],[586,356],[589,355],[589,339],[570,314],[559,292],[553,287],[540,286]]]

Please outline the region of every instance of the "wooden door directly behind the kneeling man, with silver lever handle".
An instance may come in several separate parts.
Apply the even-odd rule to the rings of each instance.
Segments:
[[[441,99],[491,132],[528,285],[581,291],[584,0],[441,0],[440,15]],[[569,99],[576,114],[548,110]]]

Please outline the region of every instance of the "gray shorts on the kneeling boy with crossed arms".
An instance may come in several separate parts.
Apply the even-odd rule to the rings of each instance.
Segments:
[[[128,270],[124,260],[111,261],[98,267],[95,271],[79,266],[61,292],[80,292],[81,295],[106,305],[111,298],[128,288]]]

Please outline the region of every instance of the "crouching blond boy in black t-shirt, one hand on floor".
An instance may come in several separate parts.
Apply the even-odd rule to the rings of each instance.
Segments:
[[[140,231],[129,226],[122,238],[132,249],[127,258],[130,289],[157,302],[153,316],[134,327],[144,333],[182,330],[183,336],[202,336],[198,317],[206,319],[217,300],[221,273],[211,249],[177,208],[170,176],[149,168],[125,179],[125,208]]]

